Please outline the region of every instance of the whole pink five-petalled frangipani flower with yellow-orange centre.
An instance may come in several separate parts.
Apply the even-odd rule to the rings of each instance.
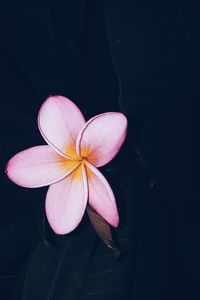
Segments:
[[[23,187],[50,185],[45,209],[57,234],[69,233],[78,226],[87,202],[117,227],[115,197],[97,167],[118,153],[126,137],[126,117],[109,112],[85,122],[71,100],[50,96],[39,111],[38,126],[47,145],[13,156],[6,167],[7,176]]]

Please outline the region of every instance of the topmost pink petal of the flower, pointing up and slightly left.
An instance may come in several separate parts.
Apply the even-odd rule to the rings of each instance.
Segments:
[[[45,141],[68,158],[76,158],[74,145],[84,124],[78,107],[63,96],[48,97],[38,116],[38,126]]]

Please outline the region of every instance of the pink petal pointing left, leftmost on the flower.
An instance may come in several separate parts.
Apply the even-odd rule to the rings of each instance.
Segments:
[[[50,146],[36,146],[13,156],[6,166],[7,176],[23,187],[35,188],[52,184],[77,167],[58,155]]]

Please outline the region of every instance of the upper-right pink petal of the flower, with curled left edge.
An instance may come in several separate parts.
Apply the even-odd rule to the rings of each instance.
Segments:
[[[90,119],[80,132],[76,151],[96,167],[111,161],[119,152],[127,131],[126,117],[117,112]]]

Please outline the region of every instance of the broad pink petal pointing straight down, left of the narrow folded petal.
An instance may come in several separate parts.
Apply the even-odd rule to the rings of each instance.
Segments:
[[[49,187],[46,214],[55,233],[66,234],[78,226],[87,199],[87,178],[83,164],[68,177]]]

